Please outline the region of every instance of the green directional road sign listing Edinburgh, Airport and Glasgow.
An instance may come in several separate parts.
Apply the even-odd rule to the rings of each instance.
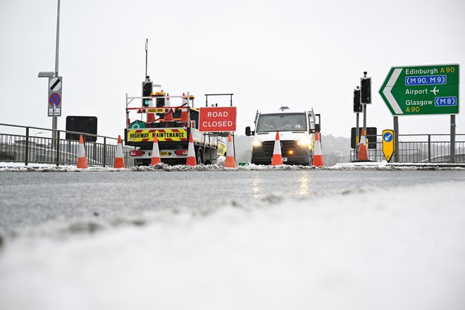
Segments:
[[[392,67],[380,88],[393,116],[459,113],[459,65]]]

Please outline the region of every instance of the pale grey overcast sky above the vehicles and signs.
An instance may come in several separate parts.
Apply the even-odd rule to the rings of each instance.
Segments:
[[[47,80],[37,73],[55,67],[56,6],[0,1],[0,123],[51,127]],[[141,93],[146,38],[151,80],[172,96],[194,94],[196,106],[204,94],[234,93],[240,134],[257,109],[284,104],[313,107],[323,134],[349,137],[352,90],[363,71],[373,80],[367,124],[380,132],[392,128],[378,94],[390,67],[459,63],[464,70],[465,2],[62,0],[59,129],[66,116],[97,116],[100,135],[123,134],[125,94]],[[399,129],[449,133],[450,116],[399,117]],[[465,133],[463,113],[457,132]]]

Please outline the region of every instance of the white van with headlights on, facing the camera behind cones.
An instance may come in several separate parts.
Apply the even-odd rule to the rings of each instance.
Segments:
[[[283,163],[311,166],[314,158],[315,132],[320,131],[320,114],[314,110],[292,111],[283,106],[280,111],[256,111],[255,130],[245,128],[245,135],[254,135],[252,163],[269,165],[273,158],[276,132],[280,135]]]

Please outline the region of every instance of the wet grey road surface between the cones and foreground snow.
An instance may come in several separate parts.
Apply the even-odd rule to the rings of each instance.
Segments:
[[[4,171],[0,227],[9,232],[47,221],[247,204],[271,194],[305,197],[459,180],[465,171]]]

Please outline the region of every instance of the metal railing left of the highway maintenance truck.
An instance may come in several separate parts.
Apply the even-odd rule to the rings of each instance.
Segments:
[[[53,132],[56,132],[56,137],[53,137]],[[75,134],[77,137],[82,135],[89,166],[114,165],[118,138],[2,123],[0,123],[0,161],[25,163],[26,165],[29,163],[51,163],[56,166],[76,165],[79,141],[66,140],[67,133]],[[134,166],[134,161],[129,156],[132,149],[134,148],[123,147],[126,167]]]

